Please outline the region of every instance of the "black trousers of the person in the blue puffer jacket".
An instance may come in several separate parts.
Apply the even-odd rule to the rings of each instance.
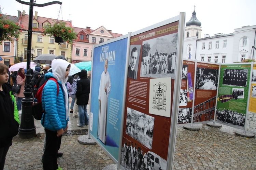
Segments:
[[[46,145],[43,156],[43,167],[44,170],[56,170],[58,169],[57,164],[57,153],[60,148],[61,137],[57,137],[56,131],[45,130]]]

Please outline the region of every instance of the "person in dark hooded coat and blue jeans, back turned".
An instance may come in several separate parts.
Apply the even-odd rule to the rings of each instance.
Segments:
[[[76,104],[78,105],[79,111],[79,124],[77,126],[84,127],[88,126],[89,118],[87,114],[87,104],[89,102],[90,94],[90,80],[87,78],[87,71],[82,70],[78,73],[80,80],[77,81],[76,93],[77,98]]]

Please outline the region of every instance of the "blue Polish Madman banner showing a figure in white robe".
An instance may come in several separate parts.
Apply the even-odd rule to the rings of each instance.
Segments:
[[[90,134],[118,159],[126,70],[127,38],[94,48]]]

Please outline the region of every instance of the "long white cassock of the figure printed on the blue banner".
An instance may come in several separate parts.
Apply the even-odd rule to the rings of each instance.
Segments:
[[[106,92],[105,92],[106,88]],[[108,111],[108,97],[110,93],[111,83],[109,72],[106,73],[103,71],[100,77],[100,87],[99,87],[99,100],[100,100],[100,109],[99,109],[99,126],[98,134],[99,139],[105,143],[106,141],[106,124],[107,124],[107,111]]]

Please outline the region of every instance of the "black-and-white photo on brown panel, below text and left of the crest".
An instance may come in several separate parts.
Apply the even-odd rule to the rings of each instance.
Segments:
[[[152,149],[155,118],[127,107],[125,133]]]

